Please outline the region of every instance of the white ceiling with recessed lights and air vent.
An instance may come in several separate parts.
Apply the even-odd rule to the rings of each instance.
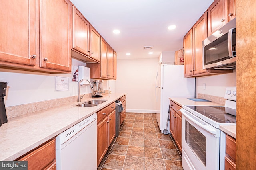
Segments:
[[[182,49],[184,35],[213,1],[71,0],[116,51],[117,59],[154,58],[162,51]],[[169,25],[177,27],[168,30]],[[112,33],[114,29],[120,34]],[[144,46],[153,49],[144,50]]]

